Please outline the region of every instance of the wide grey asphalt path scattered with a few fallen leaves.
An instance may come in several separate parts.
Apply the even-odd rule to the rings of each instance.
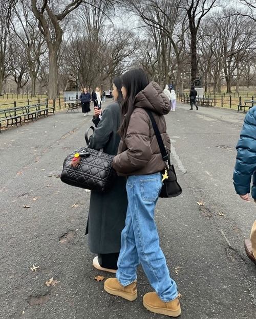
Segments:
[[[159,199],[156,222],[183,319],[255,318],[256,267],[243,240],[256,211],[232,185],[244,116],[180,103],[166,116],[183,193]],[[134,302],[94,279],[112,275],[93,267],[84,236],[90,192],[59,178],[90,125],[81,110],[60,111],[0,134],[1,319],[166,318],[143,307],[152,288],[140,266]]]

